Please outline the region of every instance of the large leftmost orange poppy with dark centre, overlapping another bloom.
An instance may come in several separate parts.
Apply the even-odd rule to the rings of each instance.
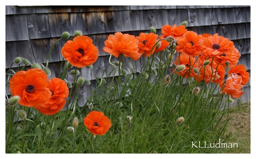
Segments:
[[[51,97],[48,84],[49,78],[43,70],[31,68],[13,75],[10,79],[10,91],[13,96],[20,96],[20,105],[35,107],[43,105]]]

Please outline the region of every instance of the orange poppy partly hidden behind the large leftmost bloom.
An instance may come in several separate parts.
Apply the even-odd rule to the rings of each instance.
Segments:
[[[66,104],[65,98],[69,94],[69,89],[64,80],[56,77],[51,79],[48,88],[52,92],[52,96],[44,105],[40,105],[36,109],[44,115],[53,115],[62,110]]]

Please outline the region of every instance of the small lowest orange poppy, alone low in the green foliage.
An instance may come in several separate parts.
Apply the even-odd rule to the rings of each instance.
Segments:
[[[91,111],[84,118],[84,125],[94,135],[104,135],[111,127],[111,121],[104,113]]]

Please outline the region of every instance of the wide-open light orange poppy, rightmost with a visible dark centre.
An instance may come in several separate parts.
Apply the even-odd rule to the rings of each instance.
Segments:
[[[205,57],[215,57],[216,55],[226,54],[234,47],[232,41],[228,38],[219,36],[218,33],[200,39],[199,44],[202,46],[201,55]]]

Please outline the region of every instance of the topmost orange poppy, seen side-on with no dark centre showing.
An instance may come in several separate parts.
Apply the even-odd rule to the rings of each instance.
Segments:
[[[182,35],[187,31],[187,29],[185,29],[185,25],[163,25],[161,31],[163,38],[172,36],[173,38],[177,39],[179,37],[182,37]]]

